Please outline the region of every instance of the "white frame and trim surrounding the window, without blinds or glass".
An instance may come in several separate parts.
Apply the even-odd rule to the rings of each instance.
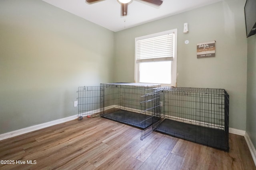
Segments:
[[[177,86],[177,34],[178,31],[177,29],[172,29],[172,30],[168,30],[168,31],[163,31],[160,33],[154,33],[154,34],[150,34],[150,35],[145,35],[142,37],[136,37],[135,38],[135,70],[134,70],[134,80],[135,82],[139,82],[140,80],[140,73],[139,73],[139,65],[140,63],[137,62],[137,41],[138,40],[142,40],[142,39],[148,39],[148,38],[153,38],[153,37],[158,37],[158,36],[162,36],[162,35],[167,35],[167,34],[174,34],[174,45],[173,45],[173,49],[174,49],[174,55],[173,55],[173,60],[171,62],[171,84],[161,84],[162,86]],[[150,61],[150,59],[148,59]],[[159,59],[158,59],[159,60]],[[154,61],[154,59],[152,59],[152,61]],[[163,58],[162,61],[165,61],[165,59]],[[161,74],[161,72],[159,73]]]

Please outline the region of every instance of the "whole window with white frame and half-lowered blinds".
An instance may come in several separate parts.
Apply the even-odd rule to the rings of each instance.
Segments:
[[[177,29],[135,38],[135,81],[176,86]]]

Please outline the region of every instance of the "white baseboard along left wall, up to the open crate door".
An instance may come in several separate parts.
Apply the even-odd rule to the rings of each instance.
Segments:
[[[64,123],[66,121],[74,120],[76,118],[77,118],[77,115],[73,115],[73,116],[70,116],[70,117],[65,117],[65,118],[62,118],[62,119],[57,119],[57,120],[54,120],[54,121],[49,121],[49,122],[42,123],[42,124],[39,124],[39,125],[25,127],[23,129],[18,129],[16,131],[11,131],[11,132],[7,132],[7,133],[3,133],[3,134],[0,134],[0,141],[4,140],[4,139],[8,139],[10,137],[15,137],[15,136],[18,136],[18,135],[22,135],[24,133],[36,131],[38,129],[43,129],[45,127],[49,127],[49,126],[52,126],[52,125],[57,125],[57,124],[60,124],[60,123]]]

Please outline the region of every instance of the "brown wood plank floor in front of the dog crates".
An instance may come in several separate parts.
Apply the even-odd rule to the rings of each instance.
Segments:
[[[244,137],[230,134],[229,145],[224,152],[156,132],[140,141],[140,129],[91,117],[0,141],[8,163],[0,169],[256,170]]]

